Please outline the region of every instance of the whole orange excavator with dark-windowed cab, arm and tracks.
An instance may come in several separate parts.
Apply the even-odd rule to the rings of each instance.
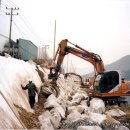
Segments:
[[[74,47],[68,46],[68,43],[72,44]],[[90,62],[94,66],[95,80],[93,83],[93,91],[89,93],[90,98],[102,98],[106,105],[127,104],[124,97],[130,96],[130,81],[125,81],[121,78],[121,73],[119,71],[106,71],[103,61],[98,54],[89,52],[69,42],[67,39],[59,43],[54,57],[54,62],[57,62],[50,67],[49,79],[57,80],[61,72],[61,64],[63,63],[64,57],[69,53]]]

